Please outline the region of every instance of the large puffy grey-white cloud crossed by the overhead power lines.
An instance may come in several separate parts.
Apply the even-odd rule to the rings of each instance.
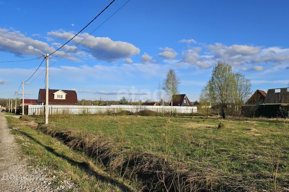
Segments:
[[[48,32],[47,35],[69,40],[74,36],[74,33],[60,30]],[[88,35],[88,33],[81,33],[73,38],[72,41],[78,44]],[[113,41],[108,37],[94,37],[92,35],[82,41],[80,45],[84,46],[85,50],[95,58],[105,61],[117,61],[120,58],[129,57],[140,52],[133,44],[123,41]]]

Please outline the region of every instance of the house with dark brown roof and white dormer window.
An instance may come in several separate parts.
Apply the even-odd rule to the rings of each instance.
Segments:
[[[38,103],[45,103],[46,89],[39,89]],[[49,105],[76,105],[77,94],[72,90],[49,89],[48,104]]]

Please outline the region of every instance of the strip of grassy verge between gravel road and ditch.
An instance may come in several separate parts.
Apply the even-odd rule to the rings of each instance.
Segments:
[[[31,123],[23,123],[23,120],[12,117],[6,119],[9,126],[19,128],[11,132],[23,136],[17,137],[17,143],[25,155],[33,157],[30,166],[45,166],[56,170],[59,178],[71,179],[81,191],[137,191],[123,179],[107,174],[101,166],[96,165],[95,161],[83,153],[76,152],[56,138],[30,128]],[[132,182],[130,184],[134,185]]]

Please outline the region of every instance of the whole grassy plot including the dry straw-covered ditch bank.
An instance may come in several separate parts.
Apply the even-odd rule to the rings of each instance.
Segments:
[[[86,115],[57,120],[42,130],[84,150],[111,172],[141,176],[162,190],[289,187],[288,121],[93,115],[89,121]],[[226,128],[217,129],[219,122]]]

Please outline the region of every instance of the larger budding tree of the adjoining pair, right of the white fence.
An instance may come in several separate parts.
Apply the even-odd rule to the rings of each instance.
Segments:
[[[219,105],[222,118],[225,119],[228,105],[232,104],[234,96],[235,79],[232,67],[225,61],[219,61],[213,68],[208,85],[212,100]]]

